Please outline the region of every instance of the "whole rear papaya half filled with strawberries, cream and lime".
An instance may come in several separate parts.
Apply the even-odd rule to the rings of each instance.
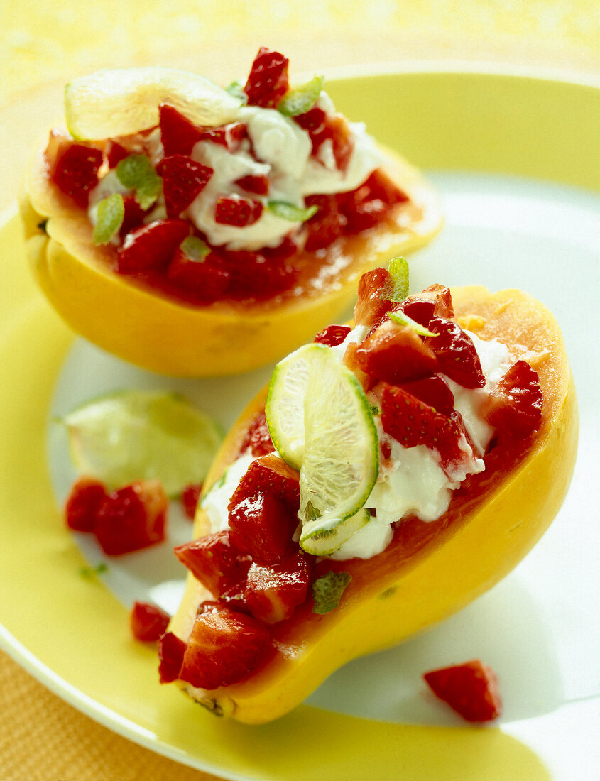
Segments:
[[[21,199],[35,276],[74,330],[160,373],[280,358],[441,223],[420,173],[336,112],[323,77],[290,87],[279,52],[227,89],[103,70],[65,105]]]

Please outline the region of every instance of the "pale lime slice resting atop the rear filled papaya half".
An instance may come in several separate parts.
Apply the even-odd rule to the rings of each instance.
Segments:
[[[159,105],[169,103],[198,125],[232,122],[241,105],[205,77],[177,68],[98,70],[65,87],[65,117],[77,140],[124,136],[159,123]]]

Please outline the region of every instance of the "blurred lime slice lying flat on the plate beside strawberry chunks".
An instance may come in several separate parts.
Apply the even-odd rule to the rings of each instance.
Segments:
[[[116,391],[60,422],[79,473],[110,488],[157,478],[170,496],[202,483],[222,439],[212,419],[166,391]]]

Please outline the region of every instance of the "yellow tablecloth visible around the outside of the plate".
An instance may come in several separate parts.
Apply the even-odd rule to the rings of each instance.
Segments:
[[[0,5],[0,209],[61,111],[62,84],[105,66],[240,77],[259,45],[292,72],[468,60],[600,76],[597,0],[95,0]],[[2,483],[0,483],[1,486]],[[0,490],[2,490],[0,488]],[[0,781],[200,781],[63,703],[0,651]]]

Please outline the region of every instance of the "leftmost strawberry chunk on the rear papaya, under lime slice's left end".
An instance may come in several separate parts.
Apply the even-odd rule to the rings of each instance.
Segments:
[[[78,144],[51,136],[46,152],[50,178],[56,187],[82,209],[87,209],[90,191],[98,184],[102,152],[91,144]]]

